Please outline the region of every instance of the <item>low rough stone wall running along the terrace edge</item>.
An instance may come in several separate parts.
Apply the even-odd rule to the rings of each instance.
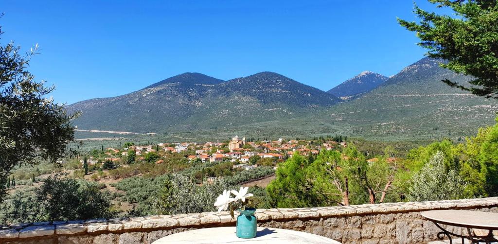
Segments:
[[[449,201],[365,204],[295,209],[258,209],[258,226],[303,231],[344,244],[415,244],[436,240],[438,229],[420,213],[464,209],[498,213],[498,197]],[[0,243],[152,243],[178,232],[235,226],[228,212],[126,219],[18,224],[0,230]],[[454,230],[458,233],[461,230]]]

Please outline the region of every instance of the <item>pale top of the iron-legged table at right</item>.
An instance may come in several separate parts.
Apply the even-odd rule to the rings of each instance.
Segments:
[[[498,230],[498,214],[468,210],[432,210],[422,212],[430,221],[475,229]]]

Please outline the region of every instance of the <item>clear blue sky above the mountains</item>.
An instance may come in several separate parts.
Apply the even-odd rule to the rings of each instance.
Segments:
[[[0,41],[38,43],[30,71],[69,104],[184,72],[228,80],[273,71],[327,91],[422,58],[396,22],[415,20],[412,10],[412,0],[2,0]]]

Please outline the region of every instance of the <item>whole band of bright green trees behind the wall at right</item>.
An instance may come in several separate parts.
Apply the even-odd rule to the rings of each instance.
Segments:
[[[498,121],[498,119],[497,119]],[[322,150],[314,161],[294,154],[267,187],[272,207],[316,207],[393,201],[434,201],[498,196],[498,123],[465,143],[433,142],[392,151],[368,163],[354,147]],[[400,160],[400,162],[398,162]]]

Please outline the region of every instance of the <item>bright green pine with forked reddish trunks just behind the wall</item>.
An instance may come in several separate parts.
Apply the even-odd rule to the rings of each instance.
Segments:
[[[401,175],[396,163],[368,163],[354,147],[344,155],[322,150],[315,160],[295,153],[279,165],[267,192],[278,208],[381,203],[399,200],[394,182]]]

